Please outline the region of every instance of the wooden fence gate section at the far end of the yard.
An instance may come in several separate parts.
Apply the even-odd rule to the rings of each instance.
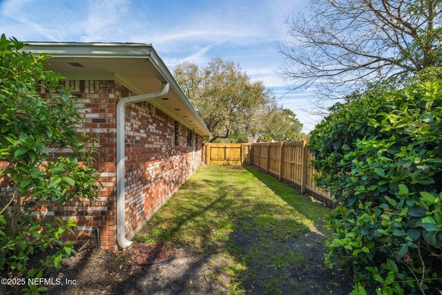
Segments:
[[[202,160],[207,165],[249,164],[250,144],[204,144]]]

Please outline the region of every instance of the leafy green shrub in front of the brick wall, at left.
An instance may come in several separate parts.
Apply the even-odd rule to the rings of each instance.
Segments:
[[[68,90],[59,85],[59,75],[44,70],[48,57],[20,53],[21,48],[17,39],[1,36],[0,162],[7,166],[0,171],[0,271],[18,275],[35,250],[59,246],[27,274],[38,278],[73,252],[73,244],[61,236],[75,226],[74,220],[55,220],[39,210],[76,198],[93,200],[99,173],[91,166],[95,141],[85,134],[79,140],[81,117]],[[50,98],[42,99],[35,91],[42,85]],[[70,153],[59,156],[61,149]],[[42,290],[30,285],[26,291]]]

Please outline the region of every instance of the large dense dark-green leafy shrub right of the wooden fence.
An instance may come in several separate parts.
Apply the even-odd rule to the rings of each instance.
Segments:
[[[355,294],[439,294],[442,83],[367,93],[318,124],[309,149],[338,202],[326,263],[356,274]]]

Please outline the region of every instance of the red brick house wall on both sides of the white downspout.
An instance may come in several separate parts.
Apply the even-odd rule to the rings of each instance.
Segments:
[[[66,82],[66,86],[78,97],[78,112],[82,117],[79,131],[85,131],[99,141],[95,158],[103,187],[92,204],[79,200],[63,206],[48,206],[45,214],[63,220],[76,218],[75,234],[66,234],[64,238],[79,243],[95,242],[93,229],[98,227],[102,249],[115,250],[116,108],[119,99],[134,94],[113,80],[75,80]],[[42,88],[41,96],[47,95]],[[175,132],[173,117],[148,102],[129,104],[125,115],[125,224],[126,236],[131,237],[200,166],[202,139],[192,132],[192,144],[188,146],[186,126],[177,124]]]

